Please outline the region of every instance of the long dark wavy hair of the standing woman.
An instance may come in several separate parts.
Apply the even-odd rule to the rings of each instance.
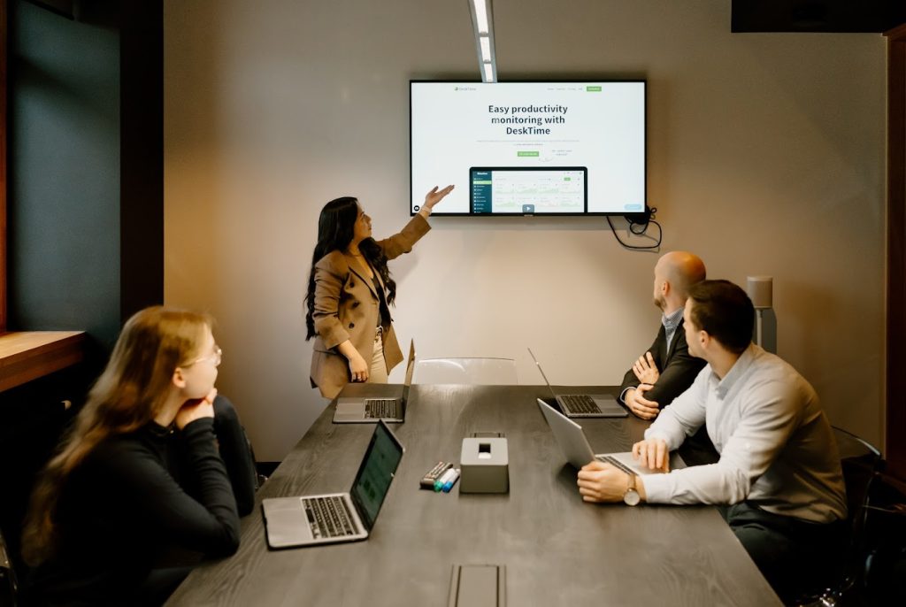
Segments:
[[[305,326],[308,333],[305,340],[312,339],[318,333],[314,330],[314,266],[321,261],[324,255],[333,251],[345,251],[355,235],[355,222],[359,218],[359,199],[351,196],[334,198],[321,209],[318,218],[318,242],[314,246],[312,255],[312,270],[308,275],[308,294],[305,303],[308,312],[305,313]],[[368,260],[381,280],[387,287],[387,304],[393,304],[396,299],[396,282],[390,277],[390,268],[387,267],[387,255],[374,241],[374,238],[365,238],[359,243],[361,255]]]

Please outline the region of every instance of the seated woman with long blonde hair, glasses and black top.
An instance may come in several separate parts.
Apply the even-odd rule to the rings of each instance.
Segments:
[[[204,314],[152,307],[125,324],[34,488],[22,544],[36,604],[159,604],[188,573],[155,569],[162,554],[236,551],[214,431],[220,356]],[[174,440],[192,495],[169,472]]]

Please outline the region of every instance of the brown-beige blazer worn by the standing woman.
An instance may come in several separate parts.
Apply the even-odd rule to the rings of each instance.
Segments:
[[[399,234],[379,240],[387,259],[409,253],[412,246],[425,236],[431,226],[424,217],[416,215]],[[377,274],[377,273],[375,273]],[[381,282],[381,276],[378,276]],[[332,251],[314,265],[314,338],[312,355],[312,387],[323,396],[333,399],[350,381],[349,362],[337,346],[349,340],[361,357],[371,363],[374,333],[380,315],[378,294],[371,279],[352,255]],[[382,340],[387,372],[402,361],[400,343],[387,319]]]

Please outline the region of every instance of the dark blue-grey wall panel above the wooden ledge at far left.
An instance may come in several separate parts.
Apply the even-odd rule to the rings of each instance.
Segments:
[[[120,39],[24,2],[10,20],[9,328],[120,328]]]

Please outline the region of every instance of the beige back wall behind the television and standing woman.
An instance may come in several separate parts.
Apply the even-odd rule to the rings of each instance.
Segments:
[[[880,443],[882,36],[730,34],[727,0],[494,9],[502,79],[648,79],[662,250],[773,275],[779,353]],[[467,5],[171,0],[165,39],[166,300],[217,316],[218,385],[277,460],[325,405],[302,316],[318,212],[351,194],[376,235],[407,221],[408,81],[478,77]],[[536,384],[530,345],[554,383],[617,383],[653,339],[656,255],[601,218],[432,225],[391,266],[419,355],[515,357]]]

